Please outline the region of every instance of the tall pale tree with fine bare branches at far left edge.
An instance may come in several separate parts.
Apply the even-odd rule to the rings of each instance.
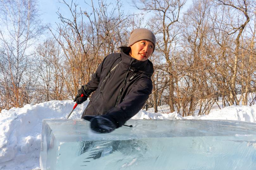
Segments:
[[[36,80],[29,68],[33,65],[30,51],[44,31],[37,2],[1,0],[0,20],[0,41],[4,50],[1,71],[7,79],[3,108],[21,107],[32,99],[31,91]]]

